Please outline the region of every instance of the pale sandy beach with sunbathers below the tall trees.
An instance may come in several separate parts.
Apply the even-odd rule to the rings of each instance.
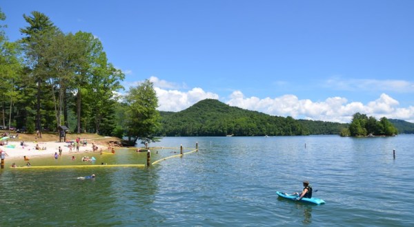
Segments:
[[[93,140],[87,140],[88,144],[86,146],[79,146],[79,151],[77,152],[76,148],[72,148],[72,153],[86,153],[92,152],[92,143]],[[39,144],[40,148],[44,149],[36,149],[36,145]],[[70,149],[68,147],[67,142],[23,142],[23,146],[21,146],[21,141],[12,141],[9,140],[7,144],[0,146],[1,151],[6,152],[6,159],[17,159],[23,158],[26,156],[27,158],[33,158],[37,156],[53,156],[55,152],[59,154],[59,147],[62,148],[62,155],[69,154]],[[99,144],[95,144],[98,147],[98,151],[101,149],[103,151],[108,149],[108,146],[102,146]]]

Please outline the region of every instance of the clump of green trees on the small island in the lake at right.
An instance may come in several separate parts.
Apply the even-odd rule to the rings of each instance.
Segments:
[[[356,113],[349,125],[351,136],[394,136],[397,128],[387,119],[381,118],[377,121],[374,117],[369,118],[365,114]]]

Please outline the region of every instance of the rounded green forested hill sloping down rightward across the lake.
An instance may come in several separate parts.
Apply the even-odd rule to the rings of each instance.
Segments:
[[[179,112],[161,111],[158,136],[299,136],[339,134],[346,124],[295,120],[230,107],[215,99]]]

